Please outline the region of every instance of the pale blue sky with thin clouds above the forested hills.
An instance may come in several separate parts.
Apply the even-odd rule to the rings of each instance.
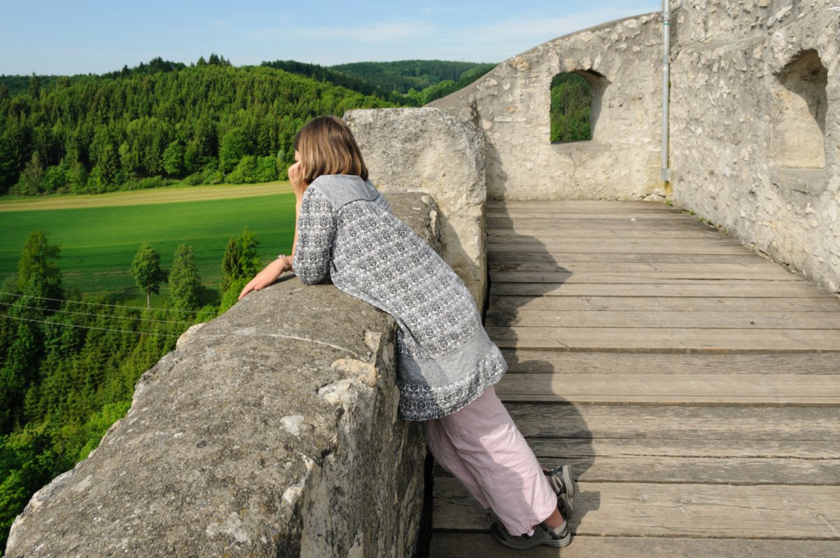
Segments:
[[[0,0],[0,74],[77,74],[184,62],[215,52],[235,66],[297,60],[501,62],[660,0]]]

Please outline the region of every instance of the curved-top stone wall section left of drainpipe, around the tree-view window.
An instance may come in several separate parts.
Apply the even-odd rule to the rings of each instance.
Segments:
[[[663,199],[660,181],[662,24],[622,19],[513,56],[431,106],[487,137],[491,199]],[[591,84],[592,140],[551,143],[551,81]]]

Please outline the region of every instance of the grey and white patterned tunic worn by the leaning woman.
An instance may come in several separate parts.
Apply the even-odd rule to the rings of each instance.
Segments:
[[[303,194],[293,266],[396,319],[407,420],[454,413],[507,371],[459,277],[359,176],[319,176]]]

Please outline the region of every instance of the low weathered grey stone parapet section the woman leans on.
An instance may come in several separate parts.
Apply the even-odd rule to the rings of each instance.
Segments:
[[[435,203],[391,208],[440,246]],[[32,497],[7,556],[409,556],[425,447],[398,418],[396,324],[293,275],[193,326],[90,457]]]

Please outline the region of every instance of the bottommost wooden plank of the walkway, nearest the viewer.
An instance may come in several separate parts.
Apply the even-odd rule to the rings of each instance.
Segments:
[[[500,545],[491,534],[437,531],[429,558],[837,558],[834,540],[693,539],[686,537],[601,537],[579,534],[566,548],[523,552]]]

